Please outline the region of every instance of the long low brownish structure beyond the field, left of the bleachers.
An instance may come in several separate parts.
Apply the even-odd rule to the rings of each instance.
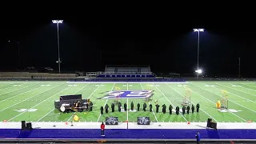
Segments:
[[[78,74],[0,72],[0,78],[76,78],[77,76],[78,76]]]

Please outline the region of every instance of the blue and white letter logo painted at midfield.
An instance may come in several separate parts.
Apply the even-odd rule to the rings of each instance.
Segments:
[[[150,98],[153,90],[120,90],[109,91],[107,95],[99,99],[116,99],[116,98]]]

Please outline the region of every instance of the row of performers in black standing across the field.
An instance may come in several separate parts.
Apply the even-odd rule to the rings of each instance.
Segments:
[[[137,110],[138,111],[140,110],[140,106],[141,106],[140,103],[138,103],[137,104]],[[156,106],[156,113],[158,113],[160,106],[158,105],[158,103],[155,106]],[[127,110],[127,104],[126,103],[124,103],[123,108],[124,108],[125,111]],[[199,112],[199,108],[200,108],[200,105],[198,103],[196,105],[196,111],[197,112]],[[121,109],[122,109],[122,103],[118,102],[118,111],[121,112]],[[101,110],[101,114],[103,114],[104,107],[101,106],[100,110]],[[112,110],[112,112],[114,112],[114,103],[111,104],[111,110]],[[130,103],[130,110],[132,110],[132,111],[134,110],[134,102]],[[142,110],[146,111],[146,102],[144,102]],[[172,110],[173,110],[173,106],[170,105],[169,106],[169,113],[170,114],[172,114]],[[191,110],[192,110],[192,114],[194,114],[194,110],[195,110],[194,105],[191,106]],[[150,112],[152,112],[152,111],[153,111],[153,106],[152,106],[152,104],[150,104]],[[108,112],[109,112],[109,106],[107,104],[105,106],[105,112],[106,112],[106,114],[108,114]],[[162,113],[166,114],[166,104],[162,105]],[[186,114],[186,113],[190,114],[190,106],[182,106],[182,114]],[[176,114],[179,114],[179,107],[178,106],[176,107]]]

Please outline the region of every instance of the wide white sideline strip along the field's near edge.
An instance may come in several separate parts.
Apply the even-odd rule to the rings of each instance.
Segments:
[[[34,129],[99,129],[102,122],[32,122]],[[206,129],[206,122],[150,122],[150,125],[138,125],[137,122],[129,122],[129,129]],[[0,122],[0,129],[21,129],[22,122]],[[228,130],[255,130],[256,122],[218,122],[219,129]],[[106,125],[106,129],[127,129],[126,122],[118,122],[118,125]]]

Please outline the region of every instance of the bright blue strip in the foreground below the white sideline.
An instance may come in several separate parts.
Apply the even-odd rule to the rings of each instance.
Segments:
[[[196,132],[202,139],[256,139],[256,130],[106,130],[104,138],[130,139],[194,139]],[[0,138],[102,138],[101,130],[86,129],[0,129]]]

